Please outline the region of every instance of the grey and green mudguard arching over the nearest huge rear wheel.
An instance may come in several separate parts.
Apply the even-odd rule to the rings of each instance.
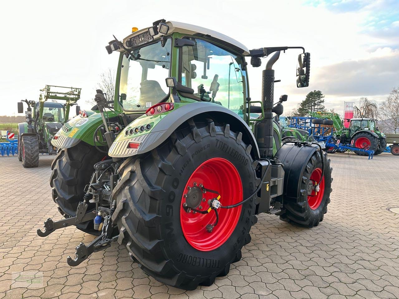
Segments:
[[[252,146],[251,153],[254,159],[259,159],[259,149],[256,144],[255,136],[244,120],[231,110],[214,103],[192,102],[174,103],[174,110],[154,116],[143,115],[131,122],[124,132],[134,130],[147,125],[151,129],[138,134],[119,134],[115,142],[108,151],[111,157],[130,157],[141,153],[146,153],[164,142],[181,124],[199,114],[207,114],[218,122],[227,122],[230,127],[245,134],[248,142]],[[204,118],[206,116],[204,115]],[[244,138],[244,137],[243,137]],[[138,148],[128,148],[129,142],[138,143]]]

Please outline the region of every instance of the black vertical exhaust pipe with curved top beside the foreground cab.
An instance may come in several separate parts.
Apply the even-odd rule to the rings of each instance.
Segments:
[[[277,51],[267,61],[266,69],[262,71],[262,101],[265,118],[256,125],[255,138],[262,158],[273,157],[273,102],[274,102],[274,69],[273,64],[279,59]]]

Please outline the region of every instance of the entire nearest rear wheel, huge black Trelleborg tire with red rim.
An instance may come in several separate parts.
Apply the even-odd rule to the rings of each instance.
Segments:
[[[242,137],[229,124],[191,119],[158,148],[122,164],[113,220],[120,229],[119,243],[126,244],[132,260],[148,275],[192,290],[227,275],[230,264],[241,259],[241,248],[250,242],[249,231],[257,221],[254,199],[219,209],[219,222],[211,233],[205,226],[214,223],[214,211],[188,213],[183,204],[199,200],[198,209],[207,210],[208,199],[217,194],[204,194],[198,187],[194,192],[200,184],[218,188],[222,205],[237,203],[255,191],[256,165],[251,145]],[[237,175],[238,181],[232,179]]]

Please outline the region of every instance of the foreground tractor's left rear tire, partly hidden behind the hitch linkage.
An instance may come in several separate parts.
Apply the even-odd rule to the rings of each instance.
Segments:
[[[50,177],[50,186],[53,201],[57,204],[62,216],[69,218],[76,215],[79,201],[83,201],[83,189],[89,184],[93,174],[93,165],[104,157],[94,146],[79,142],[76,146],[61,149],[51,163],[53,172]],[[89,205],[88,209],[93,209]],[[76,225],[77,228],[93,235],[99,231],[93,227],[93,221]]]

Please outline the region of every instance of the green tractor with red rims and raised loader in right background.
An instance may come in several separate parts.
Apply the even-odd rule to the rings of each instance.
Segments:
[[[345,128],[343,120],[336,113],[331,112],[309,112],[312,117],[317,117],[312,120],[313,124],[327,124],[326,121],[330,121],[328,125],[332,125],[334,128],[333,143],[339,142],[342,144],[352,144],[356,148],[369,149],[374,151],[374,155],[382,153],[386,146],[386,136],[383,132],[378,130],[377,120],[373,118],[352,118],[348,119],[349,126]],[[335,142],[334,142],[335,141]],[[334,153],[334,148],[326,149],[327,153]],[[354,152],[357,155],[367,155],[363,151]]]

